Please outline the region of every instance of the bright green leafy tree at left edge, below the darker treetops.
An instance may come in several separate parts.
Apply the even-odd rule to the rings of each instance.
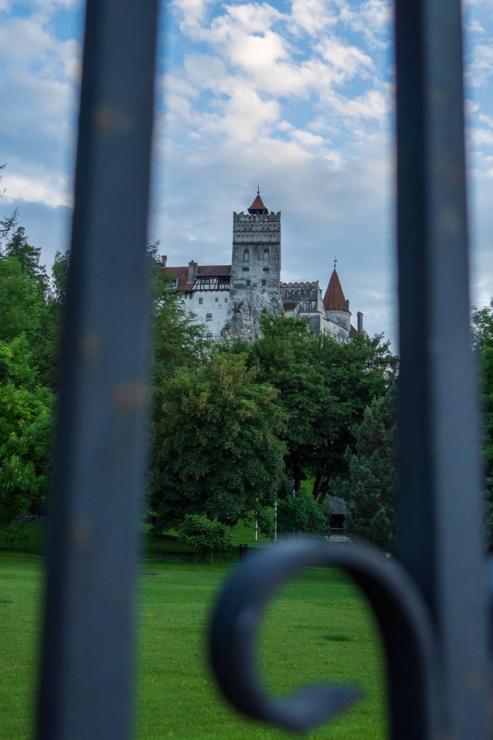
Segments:
[[[44,509],[53,395],[36,381],[25,335],[0,341],[0,526]]]

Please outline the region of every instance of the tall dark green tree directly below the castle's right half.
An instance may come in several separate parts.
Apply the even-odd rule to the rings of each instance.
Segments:
[[[224,351],[247,352],[259,378],[279,391],[288,418],[286,469],[295,491],[313,477],[313,497],[323,500],[330,481],[347,475],[353,425],[393,382],[397,360],[380,336],[358,334],[339,343],[301,318],[265,315],[262,332],[255,343],[232,343]]]

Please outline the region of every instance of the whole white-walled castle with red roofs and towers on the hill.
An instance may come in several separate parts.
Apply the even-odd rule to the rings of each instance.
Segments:
[[[248,213],[233,214],[231,265],[169,267],[161,258],[162,271],[171,279],[171,289],[182,295],[180,305],[194,314],[207,329],[208,339],[261,336],[259,317],[263,310],[304,317],[317,332],[347,341],[363,332],[363,314],[358,312],[357,329],[351,324],[349,301],[334,270],[322,298],[319,281],[281,282],[281,212],[269,212],[257,189]]]

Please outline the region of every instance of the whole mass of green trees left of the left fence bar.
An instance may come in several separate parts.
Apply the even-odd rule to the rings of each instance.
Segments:
[[[27,241],[16,213],[1,223],[0,526],[13,532],[16,517],[44,511],[54,406],[47,386],[59,320],[41,250]]]

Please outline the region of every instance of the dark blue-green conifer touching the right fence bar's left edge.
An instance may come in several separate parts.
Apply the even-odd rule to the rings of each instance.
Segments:
[[[349,476],[335,486],[346,499],[347,534],[367,539],[386,552],[395,547],[395,408],[394,393],[374,400],[353,428],[354,451],[347,451]]]

